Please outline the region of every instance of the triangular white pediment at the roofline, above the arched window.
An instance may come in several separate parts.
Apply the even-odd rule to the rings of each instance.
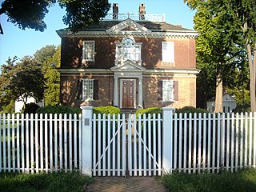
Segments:
[[[151,31],[146,27],[141,26],[137,22],[134,22],[130,18],[127,18],[125,21],[118,23],[115,26],[112,26],[110,29],[106,30],[107,34],[116,34],[116,33],[143,33],[150,34]]]

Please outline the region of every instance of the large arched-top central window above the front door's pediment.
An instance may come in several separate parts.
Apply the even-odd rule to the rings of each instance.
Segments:
[[[126,60],[138,62],[139,65],[142,65],[141,49],[142,43],[135,42],[132,37],[124,38],[122,42],[116,42],[116,65],[118,65],[118,62]]]

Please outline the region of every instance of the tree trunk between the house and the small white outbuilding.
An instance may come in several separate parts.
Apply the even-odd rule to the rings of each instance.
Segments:
[[[222,70],[218,70],[218,75],[216,78],[216,94],[215,94],[215,110],[214,110],[215,113],[222,113],[223,111],[222,81],[223,81]]]

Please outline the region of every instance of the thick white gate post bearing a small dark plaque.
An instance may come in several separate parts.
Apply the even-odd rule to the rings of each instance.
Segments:
[[[82,109],[82,174],[92,176],[92,116],[93,106]]]

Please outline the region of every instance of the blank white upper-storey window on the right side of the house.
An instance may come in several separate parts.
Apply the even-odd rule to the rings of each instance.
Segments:
[[[174,42],[162,42],[162,62],[174,62]]]

